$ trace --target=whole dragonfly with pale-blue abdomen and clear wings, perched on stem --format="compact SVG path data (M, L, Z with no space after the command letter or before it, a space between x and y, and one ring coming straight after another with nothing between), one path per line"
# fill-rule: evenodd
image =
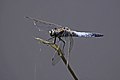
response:
M26 17L26 18L32 20L33 24L39 29L39 31L41 31L41 29L39 27L41 24L48 25L48 27L46 27L46 28L48 29L47 31L51 37L48 39L48 41L52 39L54 44L58 43L60 48L62 48L63 53L64 53L66 41L68 42L69 46L68 46L67 64L69 62L70 52L73 48L73 37L83 37L83 38L103 37L103 34L101 34L101 33L89 32L89 31L75 31L75 30L71 30L69 27L64 27L64 26L61 26L61 25L58 25L55 23L51 23L51 22L47 22L44 20L35 19L35 18L31 18L31 17ZM67 40L65 40L63 38L65 38ZM58 39L58 41L57 41L57 39ZM60 60L61 60L60 55L56 54L56 52L55 52L55 54L52 58L52 64L55 65Z

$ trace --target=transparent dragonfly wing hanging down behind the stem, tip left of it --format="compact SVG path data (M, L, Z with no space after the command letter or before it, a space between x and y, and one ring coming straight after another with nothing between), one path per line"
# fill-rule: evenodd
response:
M58 41L57 43L58 43L58 46L60 47L60 49L62 49L62 47L63 47L62 42L61 42L61 41ZM62 52L64 52L64 51L62 51ZM54 54L54 56L53 56L53 58L52 58L52 65L53 65L53 66L56 65L57 63L60 62L60 60L61 60L60 55L58 55L58 53L55 51L55 54Z

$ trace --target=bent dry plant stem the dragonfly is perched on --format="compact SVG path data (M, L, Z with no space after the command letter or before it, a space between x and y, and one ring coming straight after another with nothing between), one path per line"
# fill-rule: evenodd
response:
M46 45L49 45L50 47L54 48L57 52L58 55L60 55L62 61L64 62L65 65L67 65L67 60L65 59L60 47L54 43L48 42L46 40L43 40L41 38L35 38L39 43L43 43ZM67 69L69 70L69 72L71 73L71 75L73 76L74 80L78 80L77 76L75 75L75 72L72 70L72 68L70 67L70 65L68 64Z

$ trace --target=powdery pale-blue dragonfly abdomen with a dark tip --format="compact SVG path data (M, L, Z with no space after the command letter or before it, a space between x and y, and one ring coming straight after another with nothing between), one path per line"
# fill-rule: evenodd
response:
M95 32L73 31L72 36L74 36L74 37L102 37L103 35L101 33L95 33Z

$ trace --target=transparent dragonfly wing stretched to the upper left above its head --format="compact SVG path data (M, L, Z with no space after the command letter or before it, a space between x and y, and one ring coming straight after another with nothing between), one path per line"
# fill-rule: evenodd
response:
M47 21L44 21L44 20L40 20L40 19L35 19L35 18L31 18L31 17L25 17L29 20L32 20L33 21L33 24L36 26L36 28L39 30L39 31L49 31L53 28L56 28L56 27L62 27L61 25L58 25L58 24L55 24L55 23L51 23L51 22L47 22Z

